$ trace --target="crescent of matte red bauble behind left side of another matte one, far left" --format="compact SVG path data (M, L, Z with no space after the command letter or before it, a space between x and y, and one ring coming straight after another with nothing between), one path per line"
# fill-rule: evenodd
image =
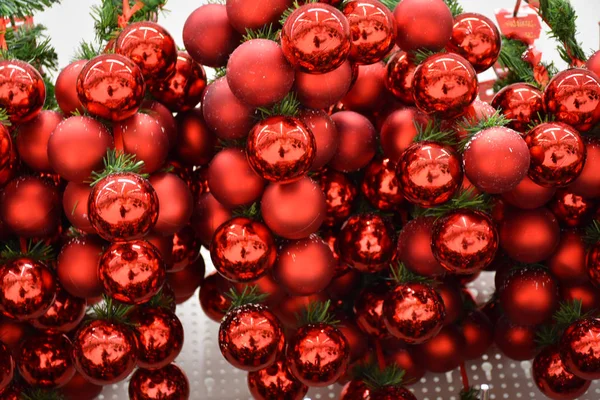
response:
M48 139L63 117L56 111L42 111L34 119L19 125L17 150L21 160L39 172L52 172L48 160Z

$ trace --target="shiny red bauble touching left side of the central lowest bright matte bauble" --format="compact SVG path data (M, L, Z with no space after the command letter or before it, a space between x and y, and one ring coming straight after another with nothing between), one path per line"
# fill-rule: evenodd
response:
M210 243L217 271L234 282L256 280L269 272L277 250L273 235L258 221L236 217L221 225Z

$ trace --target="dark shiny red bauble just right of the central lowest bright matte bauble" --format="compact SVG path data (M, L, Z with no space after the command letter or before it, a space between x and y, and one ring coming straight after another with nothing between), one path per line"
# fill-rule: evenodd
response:
M344 262L360 272L380 272L396 257L394 240L392 226L380 215L353 215L339 234L340 255Z

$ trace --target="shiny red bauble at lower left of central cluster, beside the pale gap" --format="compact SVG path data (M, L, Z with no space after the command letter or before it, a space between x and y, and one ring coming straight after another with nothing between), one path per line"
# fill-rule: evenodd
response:
M229 311L219 327L221 354L244 371L258 371L272 365L283 350L284 341L281 322L259 304L246 304Z

